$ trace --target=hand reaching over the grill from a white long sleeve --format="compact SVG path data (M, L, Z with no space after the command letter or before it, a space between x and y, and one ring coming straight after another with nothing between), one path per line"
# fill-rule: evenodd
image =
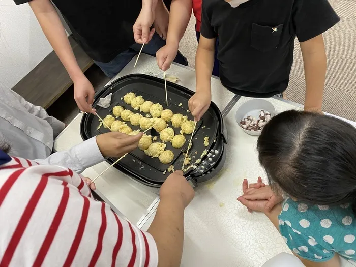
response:
M142 133L134 136L120 132L110 132L97 135L96 141L103 157L120 158L136 149Z

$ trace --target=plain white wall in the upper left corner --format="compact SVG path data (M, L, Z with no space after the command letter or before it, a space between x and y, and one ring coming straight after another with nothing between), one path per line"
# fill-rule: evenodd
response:
M51 51L28 4L0 1L0 84L12 88Z

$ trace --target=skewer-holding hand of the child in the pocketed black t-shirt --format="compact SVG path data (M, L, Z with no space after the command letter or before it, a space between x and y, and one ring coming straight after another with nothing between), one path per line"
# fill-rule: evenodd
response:
M190 112L194 120L199 122L207 109L209 109L212 102L212 95L210 91L202 91L195 93L188 101Z

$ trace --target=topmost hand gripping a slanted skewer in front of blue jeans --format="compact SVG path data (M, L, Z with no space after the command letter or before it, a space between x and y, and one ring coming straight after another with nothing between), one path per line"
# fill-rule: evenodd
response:
M143 44L151 41L155 29L150 31L150 28L154 21L154 9L149 5L142 5L141 12L132 27L136 43Z

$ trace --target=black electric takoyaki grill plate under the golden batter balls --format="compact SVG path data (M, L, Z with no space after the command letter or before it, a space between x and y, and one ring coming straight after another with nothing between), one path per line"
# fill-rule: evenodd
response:
M163 109L171 109L174 114L181 113L187 115L189 120L194 120L193 116L187 111L188 100L194 92L183 86L167 82L167 107L164 81L143 74L132 74L122 77L102 88L95 96L96 100L93 104L93 108L97 109L97 113L102 118L108 114L112 115L113 107L118 105L123 106L125 109L130 109L134 113L140 113L142 116L146 116L146 113L134 110L130 105L124 102L123 96L129 92L133 92L137 96L142 95L145 100L150 100L153 103L160 103ZM112 93L110 106L108 108L99 107L97 105L99 98L103 98L110 93ZM118 120L121 120L121 118L118 118ZM83 140L109 132L109 129L105 129L104 127L100 127L98 130L99 124L100 122L97 116L84 114L80 125L80 133ZM129 122L127 122L127 124L133 130L139 129L139 126L132 126ZM168 127L173 128L170 122L168 125ZM173 130L175 134L180 134L181 128L173 128ZM146 134L151 134L153 137L157 136L156 142L161 142L159 133L154 129L148 131ZM174 166L174 170L182 169L184 160L183 152L187 151L190 138L190 135L185 136L187 141L181 149L174 149L170 142L166 143L166 150L172 150L175 156L170 164L162 164L158 158L152 159L137 148L115 164L114 167L145 185L160 187L169 175L167 168L170 165ZM206 136L210 137L207 147L204 146L204 137ZM197 124L192 139L192 147L189 150L191 163L188 166L192 164L196 167L192 167L184 173L187 179L190 179L194 184L204 182L214 177L221 170L226 158L224 148L226 138L227 134L224 129L222 115L218 107L212 102L202 117L202 120ZM116 158L108 158L107 162L112 164L116 160ZM195 164L195 162L197 163Z

